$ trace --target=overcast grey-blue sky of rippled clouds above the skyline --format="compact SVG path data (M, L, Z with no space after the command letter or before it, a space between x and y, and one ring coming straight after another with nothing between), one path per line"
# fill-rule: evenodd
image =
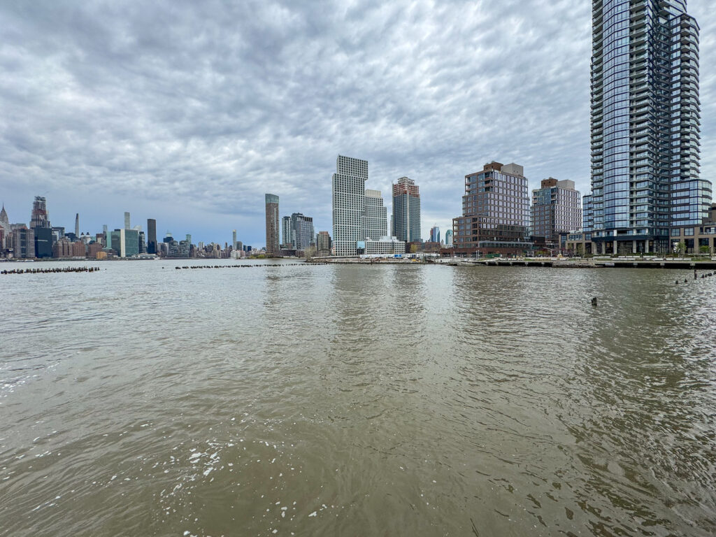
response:
M702 177L716 171L716 14L701 26ZM263 195L332 230L339 154L420 185L422 236L464 175L516 162L589 191L591 1L0 0L0 200L29 223L263 246Z

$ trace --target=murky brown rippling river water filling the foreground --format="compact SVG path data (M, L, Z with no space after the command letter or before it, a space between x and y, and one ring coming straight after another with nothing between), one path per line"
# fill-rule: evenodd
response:
M716 277L99 266L0 276L1 536L716 533Z

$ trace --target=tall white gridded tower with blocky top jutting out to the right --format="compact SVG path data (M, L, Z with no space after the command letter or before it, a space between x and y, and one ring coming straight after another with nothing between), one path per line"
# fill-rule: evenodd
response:
M337 256L356 256L362 241L368 161L338 155L332 175L333 242Z

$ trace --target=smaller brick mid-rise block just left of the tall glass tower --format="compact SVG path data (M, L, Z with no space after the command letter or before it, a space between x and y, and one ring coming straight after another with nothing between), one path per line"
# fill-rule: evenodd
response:
M559 233L579 231L582 224L581 196L574 181L544 179L532 190L531 235L556 243Z

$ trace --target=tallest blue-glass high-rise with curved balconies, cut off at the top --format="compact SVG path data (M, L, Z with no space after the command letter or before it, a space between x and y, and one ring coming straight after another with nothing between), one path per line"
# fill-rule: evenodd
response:
M699 26L685 0L593 0L591 195L596 253L667 251L707 218L699 178Z

